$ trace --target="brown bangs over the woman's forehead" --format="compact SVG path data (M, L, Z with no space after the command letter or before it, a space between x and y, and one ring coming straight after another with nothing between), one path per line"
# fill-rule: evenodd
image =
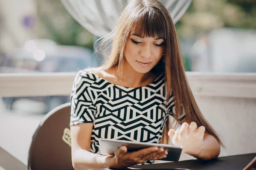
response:
M166 39L166 19L159 10L153 7L145 8L140 14L136 14L131 28L131 34Z

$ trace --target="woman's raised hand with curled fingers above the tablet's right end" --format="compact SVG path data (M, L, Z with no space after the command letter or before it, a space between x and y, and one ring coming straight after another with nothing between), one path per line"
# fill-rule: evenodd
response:
M204 132L204 126L197 128L195 122L191 122L190 125L184 122L177 130L170 129L168 135L172 144L183 147L182 152L196 156L202 149Z

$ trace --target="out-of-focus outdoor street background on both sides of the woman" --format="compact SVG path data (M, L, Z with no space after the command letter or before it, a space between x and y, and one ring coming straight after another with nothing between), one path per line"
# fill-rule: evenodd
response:
M256 0L192 0L176 29L186 71L256 72ZM94 55L98 38L60 0L0 0L0 74L97 67L103 61ZM66 102L70 96L0 96L0 146L26 163L24 153L38 123ZM22 148L17 133L27 140Z

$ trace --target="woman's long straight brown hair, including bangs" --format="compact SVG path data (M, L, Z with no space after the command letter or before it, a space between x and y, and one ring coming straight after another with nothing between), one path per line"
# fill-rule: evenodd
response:
M99 39L99 50L105 49L102 54L105 57L108 56L102 68L117 68L117 75L122 77L125 44L131 32L146 37L164 37L166 62L160 60L151 71L154 74L165 74L166 101L169 101L173 93L175 119L179 120L178 118L184 111L186 122L196 122L198 127L204 126L206 132L223 145L216 132L202 116L195 102L186 78L174 23L167 9L157 0L134 0L124 8L111 33ZM163 131L164 143L169 143L167 134L169 128L170 122L167 119Z

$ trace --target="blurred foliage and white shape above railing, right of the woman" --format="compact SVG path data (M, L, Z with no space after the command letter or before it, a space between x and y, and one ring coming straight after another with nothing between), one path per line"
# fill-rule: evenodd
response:
M187 71L256 72L256 0L193 0L176 28Z

